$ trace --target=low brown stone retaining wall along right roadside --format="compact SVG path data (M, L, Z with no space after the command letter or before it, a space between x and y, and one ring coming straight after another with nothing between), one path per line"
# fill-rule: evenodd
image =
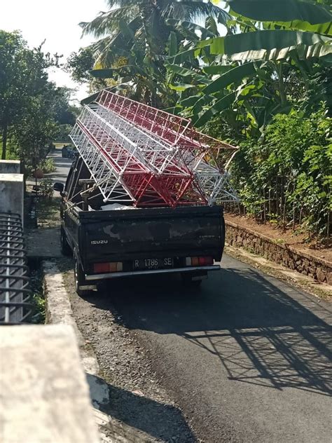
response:
M299 252L291 245L276 243L271 238L226 221L226 242L230 246L243 247L289 269L308 275L319 283L332 285L332 264L324 259Z

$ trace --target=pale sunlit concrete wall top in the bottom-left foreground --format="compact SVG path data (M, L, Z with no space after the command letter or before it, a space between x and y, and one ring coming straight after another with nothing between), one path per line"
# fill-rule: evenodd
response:
M1 443L100 442L71 327L3 327L0 355Z

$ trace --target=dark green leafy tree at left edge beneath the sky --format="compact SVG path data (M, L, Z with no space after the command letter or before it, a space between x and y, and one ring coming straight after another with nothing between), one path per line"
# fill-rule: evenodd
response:
M29 49L17 32L0 30L0 135L2 158L20 159L26 172L46 158L60 124L74 124L71 90L48 81L58 56Z

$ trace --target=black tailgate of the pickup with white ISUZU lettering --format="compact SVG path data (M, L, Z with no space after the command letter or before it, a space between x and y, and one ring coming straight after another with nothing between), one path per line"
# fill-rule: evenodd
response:
M80 243L85 263L144 257L221 259L221 207L177 207L81 212Z

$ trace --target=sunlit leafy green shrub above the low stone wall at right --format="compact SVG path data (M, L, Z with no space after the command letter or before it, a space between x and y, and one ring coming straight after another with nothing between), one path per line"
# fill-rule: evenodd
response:
M319 236L331 230L331 119L324 106L278 114L261 139L240 144L233 180L242 205L256 219L297 224Z

